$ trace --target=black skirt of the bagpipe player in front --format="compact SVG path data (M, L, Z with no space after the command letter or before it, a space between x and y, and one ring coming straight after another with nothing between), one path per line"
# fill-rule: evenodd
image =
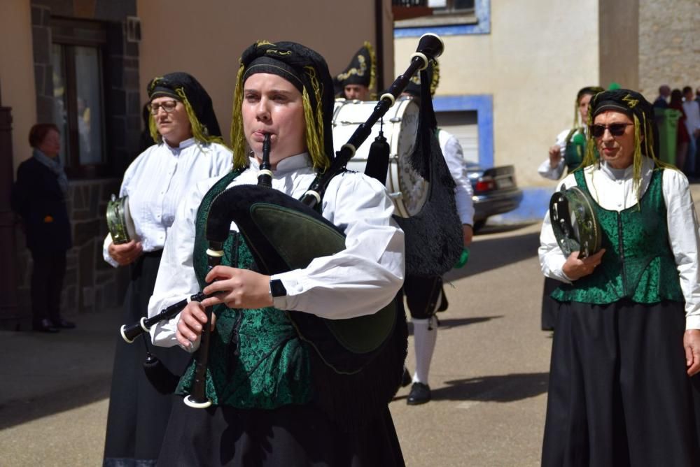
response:
M312 405L274 410L173 406L158 466L404 466L388 407L344 432Z

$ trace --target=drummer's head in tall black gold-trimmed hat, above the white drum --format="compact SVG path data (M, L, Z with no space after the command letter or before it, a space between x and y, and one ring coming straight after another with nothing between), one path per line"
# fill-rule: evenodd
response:
M365 41L355 52L350 64L333 78L338 96L345 99L369 101L374 99L374 79L377 76L377 59L372 44Z

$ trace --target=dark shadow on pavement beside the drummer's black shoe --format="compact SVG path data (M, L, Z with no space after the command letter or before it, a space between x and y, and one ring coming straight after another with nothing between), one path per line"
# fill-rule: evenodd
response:
M434 401L520 401L547 392L549 373L514 373L445 381L447 387L433 389ZM406 398L398 396L396 399Z

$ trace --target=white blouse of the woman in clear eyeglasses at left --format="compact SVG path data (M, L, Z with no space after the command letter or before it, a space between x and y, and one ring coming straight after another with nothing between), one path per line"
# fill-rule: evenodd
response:
M190 138L172 148L166 143L153 145L134 159L124 173L119 196L129 196L129 209L136 235L144 252L161 250L175 219L177 206L195 182L224 175L233 167L232 152L218 143L202 144ZM112 243L107 235L102 256L114 267L109 256Z

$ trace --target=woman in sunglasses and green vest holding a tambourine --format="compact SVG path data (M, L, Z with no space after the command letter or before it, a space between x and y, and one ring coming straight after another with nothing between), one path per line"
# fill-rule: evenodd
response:
M654 110L628 89L591 99L584 167L601 250L566 257L545 216L540 264L559 280L542 466L698 466L698 223L687 178L657 159ZM596 160L594 149L600 159Z

